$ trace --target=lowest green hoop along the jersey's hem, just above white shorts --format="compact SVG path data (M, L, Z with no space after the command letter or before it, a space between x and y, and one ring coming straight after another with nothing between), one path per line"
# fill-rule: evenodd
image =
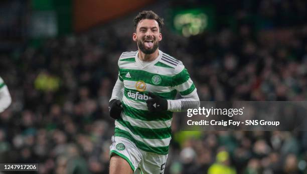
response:
M147 144L145 144L142 141L134 139L129 132L122 130L120 128L115 127L115 136L120 136L129 139L130 141L134 142L135 145L144 150L144 151L149 151L153 153L158 153L158 154L168 154L169 153L169 146L162 146L162 147L152 147Z

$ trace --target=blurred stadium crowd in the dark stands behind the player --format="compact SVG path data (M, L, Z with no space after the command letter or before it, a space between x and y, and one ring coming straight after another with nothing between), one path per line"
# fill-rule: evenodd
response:
M307 2L214 5L217 17L235 17L234 27L222 23L188 38L166 27L160 44L184 62L200 99L305 100ZM1 53L0 75L13 98L0 114L1 163L38 162L39 173L107 173L117 59L136 50L132 21L116 23ZM182 132L173 122L165 173L307 173L307 132Z

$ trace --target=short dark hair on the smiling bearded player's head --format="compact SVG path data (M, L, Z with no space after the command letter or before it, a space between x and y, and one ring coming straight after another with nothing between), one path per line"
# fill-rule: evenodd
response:
M159 24L159 28L160 28L160 32L161 29L164 25L164 19L161 18L158 14L156 14L154 11L151 10L143 10L142 12L139 12L133 19L133 24L134 24L134 29L136 29L136 26L138 24L138 22L142 19L155 19L158 24Z

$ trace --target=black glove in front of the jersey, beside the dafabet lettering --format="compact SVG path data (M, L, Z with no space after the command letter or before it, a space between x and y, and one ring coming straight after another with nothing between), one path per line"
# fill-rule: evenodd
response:
M155 95L151 92L148 92L148 96L151 97L151 99L148 99L146 101L148 110L150 112L160 112L168 110L168 101L166 99L163 99L160 96Z

